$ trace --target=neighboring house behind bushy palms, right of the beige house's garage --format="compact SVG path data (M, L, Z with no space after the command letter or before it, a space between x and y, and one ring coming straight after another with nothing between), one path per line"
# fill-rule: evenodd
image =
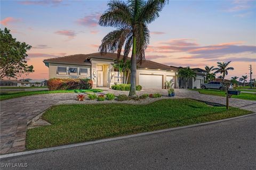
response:
M189 79L188 88L201 88L201 84L203 84L206 79L206 71L201 68L192 68L192 70L196 72L196 78ZM179 88L185 88L185 82L181 77L179 77Z

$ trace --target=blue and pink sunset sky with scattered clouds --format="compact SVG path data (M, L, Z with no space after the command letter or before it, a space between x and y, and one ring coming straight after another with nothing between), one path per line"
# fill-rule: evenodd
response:
M98 25L108 1L1 1L1 29L32 48L35 72L21 78L48 79L43 60L98 52L115 28ZM146 59L169 66L217 67L231 61L227 78L256 78L256 1L169 1L148 25ZM217 74L217 76L219 76Z

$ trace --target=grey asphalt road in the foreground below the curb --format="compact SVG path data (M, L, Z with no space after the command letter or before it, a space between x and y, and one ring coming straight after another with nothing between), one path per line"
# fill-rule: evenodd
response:
M256 115L1 162L27 169L256 169Z

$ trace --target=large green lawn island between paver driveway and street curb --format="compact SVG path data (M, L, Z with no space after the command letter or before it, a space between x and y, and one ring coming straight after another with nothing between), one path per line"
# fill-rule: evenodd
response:
M27 149L156 131L250 114L238 108L212 107L191 99L150 104L72 104L53 106L43 119L50 126L29 129Z

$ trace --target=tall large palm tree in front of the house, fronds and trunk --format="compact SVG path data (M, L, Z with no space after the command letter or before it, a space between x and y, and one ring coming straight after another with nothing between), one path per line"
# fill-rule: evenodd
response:
M101 41L99 51L103 54L117 51L117 59L121 55L124 46L124 62L130 53L131 58L131 89L129 96L136 95L136 70L137 60L145 59L145 50L149 44L148 24L159 17L166 0L113 0L108 3L108 10L103 13L99 20L100 26L115 27L114 31L108 33Z

